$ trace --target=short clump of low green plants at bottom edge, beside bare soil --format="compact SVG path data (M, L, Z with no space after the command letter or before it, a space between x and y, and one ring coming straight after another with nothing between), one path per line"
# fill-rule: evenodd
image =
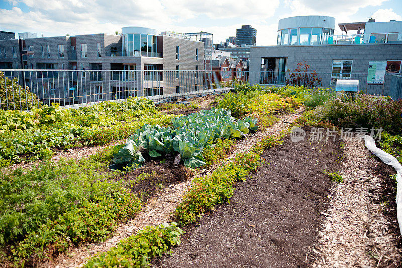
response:
M146 267L154 256L162 256L170 247L180 245L182 231L176 223L146 226L137 234L123 239L116 247L100 253L85 265L92 267Z

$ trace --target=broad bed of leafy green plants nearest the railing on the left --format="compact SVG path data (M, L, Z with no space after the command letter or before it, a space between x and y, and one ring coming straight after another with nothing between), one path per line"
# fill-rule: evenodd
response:
M18 162L22 155L37 159L44 149L70 144L106 144L127 138L147 122L168 125L172 117L156 111L152 101L137 98L80 109L52 104L29 112L0 110L0 162Z

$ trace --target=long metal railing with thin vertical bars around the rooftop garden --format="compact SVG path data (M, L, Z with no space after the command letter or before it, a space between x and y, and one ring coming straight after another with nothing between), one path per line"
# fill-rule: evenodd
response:
M25 72L23 85L22 73ZM30 110L43 104L82 107L130 96L152 100L175 99L228 92L237 82L304 85L335 88L337 79L359 80L359 90L391 94L391 76L383 84L367 84L367 74L294 73L248 71L148 71L148 70L0 70L0 109Z

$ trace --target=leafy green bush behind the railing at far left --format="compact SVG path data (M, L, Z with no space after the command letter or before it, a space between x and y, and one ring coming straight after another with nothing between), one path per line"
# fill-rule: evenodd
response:
M6 86L4 73L0 72L0 103L2 110L30 110L38 108L38 96L33 94L29 87L25 89L18 84L17 77L6 77ZM41 106L41 104L39 104Z

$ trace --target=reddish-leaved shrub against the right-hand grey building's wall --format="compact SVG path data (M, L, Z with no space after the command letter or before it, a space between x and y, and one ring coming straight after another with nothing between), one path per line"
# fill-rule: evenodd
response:
M287 69L289 78L286 79L286 84L309 88L321 86L321 78L318 77L316 71L311 71L309 68L310 65L308 65L306 61L303 61L303 63L297 63L297 68L294 69L294 71L290 72L290 69Z

